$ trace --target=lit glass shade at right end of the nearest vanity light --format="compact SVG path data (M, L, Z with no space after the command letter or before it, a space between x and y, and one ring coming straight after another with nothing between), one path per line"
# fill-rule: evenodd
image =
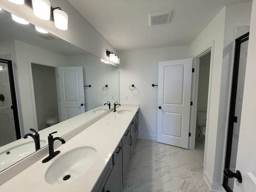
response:
M55 9L53 11L53 16L56 28L60 30L68 29L68 15L64 11Z

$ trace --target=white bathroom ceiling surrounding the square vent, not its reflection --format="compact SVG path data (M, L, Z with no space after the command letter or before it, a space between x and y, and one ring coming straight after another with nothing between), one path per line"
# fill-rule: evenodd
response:
M225 5L251 0L68 0L117 50L189 45ZM170 24L148 14L173 10Z

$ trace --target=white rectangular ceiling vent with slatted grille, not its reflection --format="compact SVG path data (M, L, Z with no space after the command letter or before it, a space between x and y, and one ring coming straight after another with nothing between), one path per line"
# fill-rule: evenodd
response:
M172 10L149 14L149 26L166 25L170 23L171 17Z

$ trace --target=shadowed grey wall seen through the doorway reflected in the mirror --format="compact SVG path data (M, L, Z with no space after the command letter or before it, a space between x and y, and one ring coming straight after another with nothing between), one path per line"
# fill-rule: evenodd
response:
M55 67L32 63L38 130L49 127L45 120L59 116Z

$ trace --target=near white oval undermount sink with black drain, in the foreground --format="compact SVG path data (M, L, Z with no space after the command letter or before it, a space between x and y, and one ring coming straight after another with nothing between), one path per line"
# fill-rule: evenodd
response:
M97 151L90 146L74 148L57 158L46 170L44 179L49 184L63 184L86 172L96 161Z

